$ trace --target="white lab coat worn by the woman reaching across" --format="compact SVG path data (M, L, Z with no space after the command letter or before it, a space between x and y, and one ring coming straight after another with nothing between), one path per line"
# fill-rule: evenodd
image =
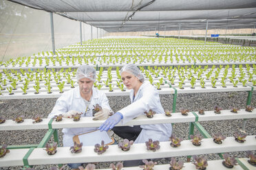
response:
M123 115L122 124L131 121L140 114L145 114L144 112L148 112L150 109L155 111L156 114L164 114L159 93L148 81L143 82L135 97L132 89L130 99L131 104L118 111ZM142 131L134 143L145 143L149 141L149 138L152 138L153 141L169 141L171 136L171 123L140 125L140 127Z

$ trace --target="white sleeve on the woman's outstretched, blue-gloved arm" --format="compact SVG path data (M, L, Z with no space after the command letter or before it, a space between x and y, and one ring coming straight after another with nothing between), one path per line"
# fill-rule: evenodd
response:
M122 124L131 121L135 117L138 117L144 112L148 112L150 108L156 108L156 100L159 99L158 92L152 87L142 88L142 97L134 103L122 108L118 112L122 113L123 119L120 121ZM154 110L153 110L154 111Z

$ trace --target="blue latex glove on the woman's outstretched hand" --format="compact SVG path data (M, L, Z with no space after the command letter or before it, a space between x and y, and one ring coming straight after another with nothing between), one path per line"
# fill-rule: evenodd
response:
M100 125L100 127L98 127L98 130L100 130L100 132L103 132L103 130L111 130L117 123L121 121L122 117L122 113L116 112L111 117L109 117L102 125Z

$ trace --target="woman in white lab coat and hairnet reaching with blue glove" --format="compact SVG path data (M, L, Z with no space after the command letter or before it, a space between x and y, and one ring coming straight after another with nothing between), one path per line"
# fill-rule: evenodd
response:
M112 129L119 122L125 124L149 110L155 111L156 114L164 114L158 90L150 82L145 81L135 64L123 66L121 77L125 86L131 89L131 104L109 117L103 125L100 125L100 131ZM152 138L153 141L169 141L171 136L171 123L140 125L140 127L142 131L134 143L145 143L149 141L149 138Z

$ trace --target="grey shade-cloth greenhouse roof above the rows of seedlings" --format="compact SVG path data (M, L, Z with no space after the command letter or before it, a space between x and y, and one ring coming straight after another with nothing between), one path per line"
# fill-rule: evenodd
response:
M239 29L256 25L255 0L9 0L107 32Z

